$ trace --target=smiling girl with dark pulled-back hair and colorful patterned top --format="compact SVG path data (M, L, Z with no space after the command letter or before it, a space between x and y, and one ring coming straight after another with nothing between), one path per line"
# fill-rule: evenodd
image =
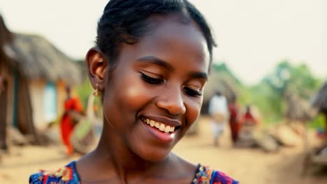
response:
M238 183L170 152L198 118L214 46L187 0L111 0L86 56L103 102L99 145L29 183Z

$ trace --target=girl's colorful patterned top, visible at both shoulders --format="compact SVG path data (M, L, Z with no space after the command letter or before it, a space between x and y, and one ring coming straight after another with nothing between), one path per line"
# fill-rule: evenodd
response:
M55 172L40 172L29 177L30 184L81 184L80 177L75 167L75 161L62 167ZM191 184L238 184L232 178L220 171L215 171L210 167L203 167L198 164L194 180Z

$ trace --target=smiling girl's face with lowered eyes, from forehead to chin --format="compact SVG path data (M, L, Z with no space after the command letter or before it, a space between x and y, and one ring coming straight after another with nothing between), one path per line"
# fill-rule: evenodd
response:
M165 159L198 118L209 60L193 23L166 20L135 45L124 44L103 82L110 133L144 160Z

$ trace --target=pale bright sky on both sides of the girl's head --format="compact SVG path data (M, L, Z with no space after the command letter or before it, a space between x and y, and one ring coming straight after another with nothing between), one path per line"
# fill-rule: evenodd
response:
M0 0L11 31L45 36L75 59L94 45L96 22L108 0ZM282 59L306 63L327 79L327 2L324 0L191 0L215 30L215 62L247 84Z

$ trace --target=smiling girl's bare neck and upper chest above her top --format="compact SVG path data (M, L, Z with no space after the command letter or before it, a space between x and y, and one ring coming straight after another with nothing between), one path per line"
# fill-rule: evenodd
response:
M77 162L82 183L140 183L175 181L190 183L196 166L170 153L161 162L149 162L134 154L109 125L103 125L103 134L97 148Z

